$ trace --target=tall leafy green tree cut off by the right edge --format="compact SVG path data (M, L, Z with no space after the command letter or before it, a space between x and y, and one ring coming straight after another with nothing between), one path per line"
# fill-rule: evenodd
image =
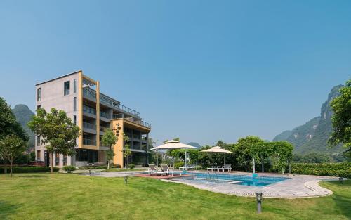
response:
M345 155L351 157L351 79L339 91L340 96L331 101L333 131L328 143L331 147L343 144Z

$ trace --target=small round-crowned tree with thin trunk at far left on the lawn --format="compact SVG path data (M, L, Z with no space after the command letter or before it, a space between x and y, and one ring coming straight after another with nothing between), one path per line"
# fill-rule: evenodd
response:
M11 134L0 141L0 150L10 162L10 176L12 176L13 161L25 151L26 143L22 138Z

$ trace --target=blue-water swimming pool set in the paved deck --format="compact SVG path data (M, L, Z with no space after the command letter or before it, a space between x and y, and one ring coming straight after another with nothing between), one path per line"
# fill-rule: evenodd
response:
M191 174L192 176L186 176L186 177L180 177L180 178L190 180L190 181L227 183L227 184L237 184L237 185L243 185L243 186L267 186L272 183L277 183L277 182L289 179L285 177L272 177L272 176L257 176L253 178L253 176L248 176L248 175L218 174L218 173L208 174L208 173L186 172L186 174ZM173 179L173 180L177 181L177 179Z

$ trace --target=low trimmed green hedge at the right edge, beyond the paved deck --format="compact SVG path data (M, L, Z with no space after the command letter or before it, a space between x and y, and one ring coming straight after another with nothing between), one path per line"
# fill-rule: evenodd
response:
M291 164L292 174L342 176L351 178L351 162L324 164Z

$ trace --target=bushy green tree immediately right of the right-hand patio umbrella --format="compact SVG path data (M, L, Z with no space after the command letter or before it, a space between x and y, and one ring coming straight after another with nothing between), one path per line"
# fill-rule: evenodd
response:
M237 157L237 162L244 170L251 170L253 149L258 145L262 145L264 141L257 136L247 136L246 138L239 138L238 142L233 146L233 152Z

